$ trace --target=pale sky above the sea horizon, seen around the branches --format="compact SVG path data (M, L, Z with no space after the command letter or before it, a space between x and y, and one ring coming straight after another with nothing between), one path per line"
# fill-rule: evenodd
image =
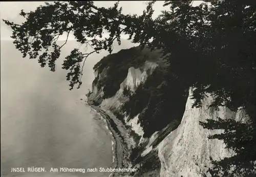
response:
M147 1L120 1L119 6L123 8L124 14L142 14L142 11L146 7ZM194 1L193 6L200 4L202 1ZM111 7L116 1L95 1L94 2L98 7ZM2 19L8 19L14 23L20 24L24 21L24 18L19 15L20 10L25 12L33 11L36 7L44 5L45 2L0 2L0 18L1 18L1 40L11 40L10 36L12 34L11 29L6 26ZM153 17L157 17L162 10L168 9L168 7L163 7L164 1L157 1L154 4L155 13ZM127 38L127 36L122 36ZM70 36L70 39L73 39L73 36ZM62 36L60 40L65 40L66 36Z

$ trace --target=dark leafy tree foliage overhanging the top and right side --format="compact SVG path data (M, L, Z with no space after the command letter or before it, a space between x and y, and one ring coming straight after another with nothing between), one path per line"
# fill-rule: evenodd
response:
M197 7L191 6L193 2L167 1L165 6L169 9L156 19L152 18L154 2L148 4L142 15L124 15L118 3L104 8L96 7L92 1L54 2L35 11L20 12L25 17L22 24L4 21L12 28L14 44L24 57L28 54L30 58L38 58L41 67L48 64L51 71L55 71L55 61L66 44L56 44L63 33L73 32L78 42L92 47L88 53L74 49L65 58L62 65L69 71L67 80L71 89L75 84L80 86L88 56L100 50L112 52L113 41L120 44L121 34L129 35L142 48L148 45L162 49L177 82L196 88L194 106L200 106L205 93L210 93L215 96L212 104L215 108L220 105L232 110L245 108L249 124L220 120L203 125L224 129L225 134L211 138L224 140L237 152L233 158L215 162L215 169L227 171L236 165L231 176L248 176L255 173L252 162L256 160L256 2L204 1ZM110 36L97 38L104 31Z

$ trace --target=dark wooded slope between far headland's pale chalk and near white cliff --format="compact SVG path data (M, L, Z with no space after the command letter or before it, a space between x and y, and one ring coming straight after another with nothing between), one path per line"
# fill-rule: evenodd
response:
M143 137L151 137L167 124L181 121L185 110L187 85L182 84L168 70L157 67L144 84L138 86L129 101L122 106L130 118L139 115ZM174 126L173 128L176 128Z

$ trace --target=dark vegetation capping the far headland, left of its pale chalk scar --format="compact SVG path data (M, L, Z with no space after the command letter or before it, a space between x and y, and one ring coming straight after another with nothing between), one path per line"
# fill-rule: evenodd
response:
M110 98L120 89L120 84L126 78L130 67L140 68L146 60L155 60L148 50L141 51L139 47L121 50L118 53L103 57L95 64L94 70L99 74L106 69L104 77L96 77L93 84L103 87L103 98Z

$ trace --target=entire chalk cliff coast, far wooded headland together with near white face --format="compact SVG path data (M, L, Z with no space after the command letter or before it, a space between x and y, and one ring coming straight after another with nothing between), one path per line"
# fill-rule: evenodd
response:
M130 151L126 160L141 169L130 175L210 177L210 159L234 153L222 141L207 138L222 130L204 129L199 121L218 117L240 121L243 110L209 108L210 96L203 99L202 107L192 108L191 89L168 75L168 64L159 52L132 48L103 58L95 65L88 96L122 122L121 133Z

